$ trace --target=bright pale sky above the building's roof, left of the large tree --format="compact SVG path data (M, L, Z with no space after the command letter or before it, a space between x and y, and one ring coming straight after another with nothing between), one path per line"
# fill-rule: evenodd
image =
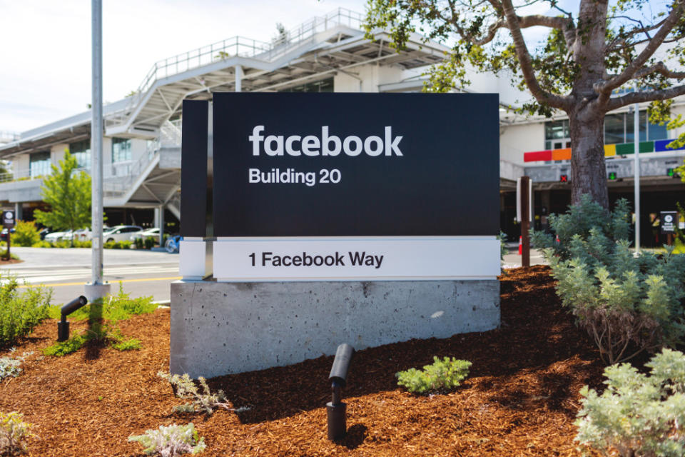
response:
M103 100L138 88L153 64L232 36L270 41L365 0L103 0ZM287 7L285 7L287 5ZM0 0L0 131L26 131L91 102L91 1Z

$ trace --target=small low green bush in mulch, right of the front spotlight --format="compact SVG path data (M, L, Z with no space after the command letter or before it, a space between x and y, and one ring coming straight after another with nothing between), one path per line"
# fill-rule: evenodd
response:
M433 357L432 365L423 367L423 371L410 368L395 374L397 385L405 386L413 393L428 393L430 391L448 391L460 385L469 376L470 361L445 357L442 360Z

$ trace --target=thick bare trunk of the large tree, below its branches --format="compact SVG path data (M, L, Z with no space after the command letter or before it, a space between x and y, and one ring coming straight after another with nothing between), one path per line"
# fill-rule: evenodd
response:
M571 201L589 194L609 209L607 168L604 164L604 113L586 109L569 112L571 129Z

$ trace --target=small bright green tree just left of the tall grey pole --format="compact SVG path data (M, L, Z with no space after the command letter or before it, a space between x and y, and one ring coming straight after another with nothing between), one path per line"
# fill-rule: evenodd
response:
M65 151L59 168L53 165L52 173L43 178L41 194L51 211L34 211L36 221L57 230L76 231L91 225L91 176L76 169L76 157Z

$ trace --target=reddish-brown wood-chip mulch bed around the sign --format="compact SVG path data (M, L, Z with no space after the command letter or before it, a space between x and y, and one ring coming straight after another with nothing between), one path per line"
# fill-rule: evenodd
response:
M168 369L169 311L120 323L141 339L140 351L87 348L61 358L41 356L56 321L19 346L35 351L24 373L0 383L0 411L34 424L30 456L143 456L131 434L193 421L208 445L203 456L580 456L573 438L579 389L602 384L596 349L554 294L544 266L502 276L502 326L446 339L412 340L359 351L343 397L348 433L326 438L325 403L333 358L222 376L236 414L172 414L180 404L156 376ZM72 332L85 327L72 323ZM433 356L472 361L452 393L415 396L395 373Z

